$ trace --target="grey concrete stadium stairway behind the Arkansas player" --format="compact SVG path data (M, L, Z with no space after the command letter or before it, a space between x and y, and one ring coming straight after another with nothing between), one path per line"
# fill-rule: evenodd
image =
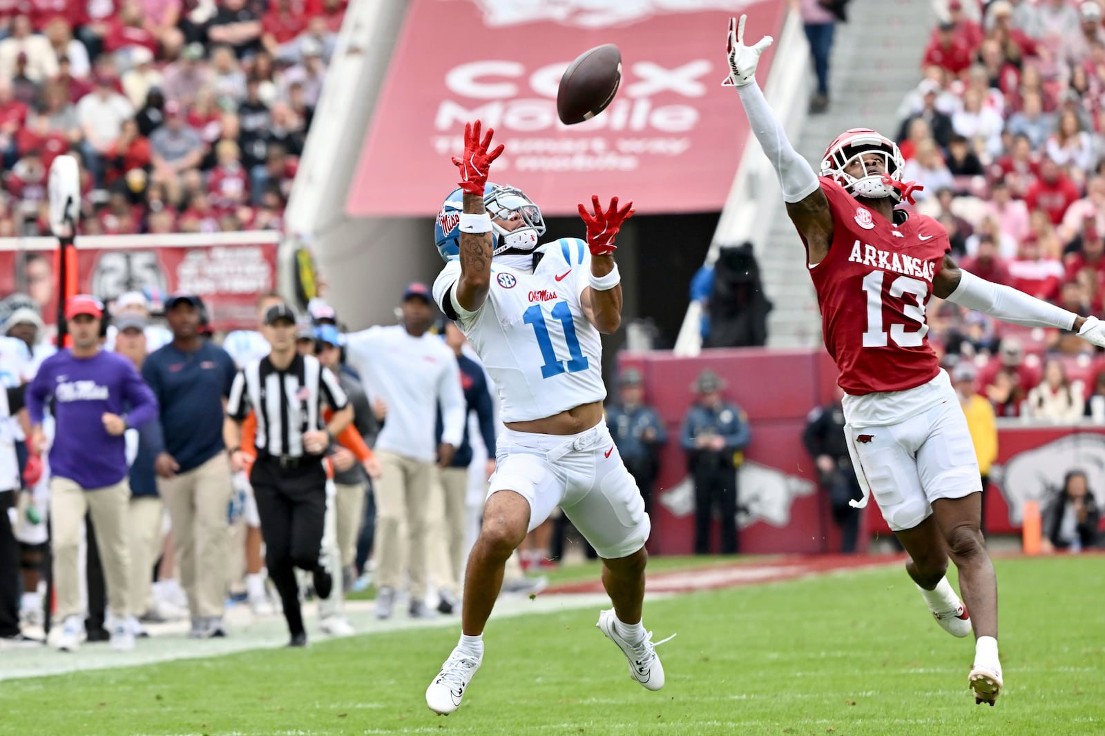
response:
M920 78L920 58L935 25L932 7L922 0L849 3L849 22L836 24L830 60L829 111L809 116L794 140L794 148L814 171L820 171L829 142L849 128L874 128L891 138L897 134L895 111ZM768 344L819 344L821 317L806 273L802 243L781 202L771 217L766 247L757 250L765 290L775 302Z

